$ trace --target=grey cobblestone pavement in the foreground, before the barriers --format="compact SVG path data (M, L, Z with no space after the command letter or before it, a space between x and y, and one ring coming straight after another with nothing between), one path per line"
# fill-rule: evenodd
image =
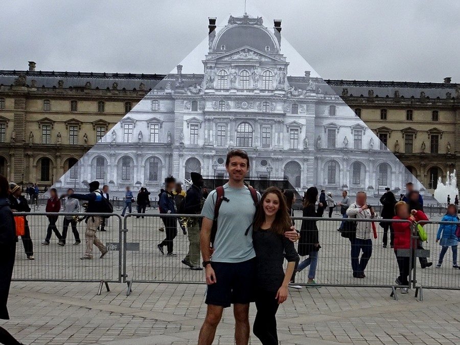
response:
M204 285L123 284L98 296L97 283L13 282L11 320L1 325L26 344L194 344L205 315ZM460 291L388 288L291 290L278 312L283 344L450 344L460 341ZM250 322L256 308L250 308ZM216 344L233 343L227 309ZM259 341L251 336L251 344Z

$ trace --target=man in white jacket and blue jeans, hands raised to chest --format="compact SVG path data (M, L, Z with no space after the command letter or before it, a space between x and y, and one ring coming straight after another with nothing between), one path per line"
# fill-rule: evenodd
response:
M365 192L356 193L356 201L348 208L347 215L350 218L357 219L377 218L374 208L367 204L367 195ZM363 279L366 277L364 270L372 256L372 234L371 222L356 223L356 236L350 239L351 264L354 278ZM362 256L360 258L359 255L361 252Z

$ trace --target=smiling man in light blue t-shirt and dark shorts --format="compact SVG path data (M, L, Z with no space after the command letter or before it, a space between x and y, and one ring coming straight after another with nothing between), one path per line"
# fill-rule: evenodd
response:
M208 310L200 330L200 345L212 344L223 309L231 304L234 305L235 341L237 344L247 344L249 341L249 303L254 302L256 284L256 253L252 246L251 223L256 213L256 205L248 187L244 185L244 177L249 170L247 153L243 150L228 152L225 168L228 182L223 186L224 199L217 218L213 252L210 244L217 198L215 190L206 198L201 211L203 222L200 247L208 284ZM257 194L260 200L261 196ZM245 235L248 228L249 232ZM293 227L285 236L291 241L296 241L299 237Z

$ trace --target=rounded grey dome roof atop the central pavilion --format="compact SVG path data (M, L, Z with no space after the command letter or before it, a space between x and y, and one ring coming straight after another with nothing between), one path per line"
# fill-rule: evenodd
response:
M230 52L247 45L268 54L279 53L280 48L274 35L268 32L264 26L258 25L261 23L262 18L256 25L247 20L242 24L241 21L235 20L240 18L231 18L234 19L235 24L226 26L218 34L214 52Z

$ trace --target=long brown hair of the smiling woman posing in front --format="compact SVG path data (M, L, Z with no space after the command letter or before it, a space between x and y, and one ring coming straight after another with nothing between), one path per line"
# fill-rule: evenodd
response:
M265 211L264 211L264 200L268 194L275 194L280 200L280 208L275 215L273 224L271 225L271 231L278 235L283 235L285 231L288 231L292 226L291 219L289 218L289 213L286 205L286 199L284 198L283 193L276 187L269 187L259 202L259 207L256 211L256 217L254 219L254 230L258 231L262 224L265 222Z

